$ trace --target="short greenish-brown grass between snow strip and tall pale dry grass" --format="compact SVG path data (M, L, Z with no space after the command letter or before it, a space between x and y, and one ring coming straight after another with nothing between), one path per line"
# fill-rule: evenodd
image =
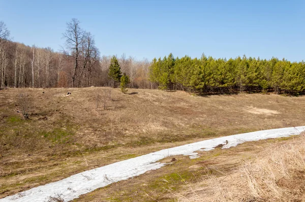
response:
M172 164L167 164L156 171L146 172L133 179L97 189L74 201L192 201L192 197L197 197L195 201L202 201L203 197L199 197L201 192L211 194L211 190L214 188L219 190L215 179L232 180L232 173L245 162L252 162L256 159L256 155L260 154L262 150L268 149L270 145L290 143L293 139L298 138L247 142L230 149L201 152L197 159L175 156L176 160L171 161L172 157L165 158L161 162L171 162ZM226 184L226 186L229 188L230 184ZM211 190L207 190L207 188ZM209 197L203 201L217 201L215 194L211 194L211 196L215 198Z

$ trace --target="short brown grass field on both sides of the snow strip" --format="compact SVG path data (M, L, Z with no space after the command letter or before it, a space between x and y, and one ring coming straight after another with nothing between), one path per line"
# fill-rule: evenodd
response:
M123 94L111 89L111 99L103 109L104 91L103 87L0 90L0 197L163 148L242 132L305 125L304 96L196 96L145 89L129 89L130 94ZM31 120L24 120L16 112L20 110L21 92L27 97ZM200 169L198 163L213 167L215 161L224 162L220 158L226 155L232 161L247 158L270 142L276 141L217 149L207 152L206 159L176 157L178 160L170 166L77 200L193 200L194 192L198 192L188 193L190 187L185 185L200 184L200 176L210 173ZM223 170L230 167L224 163L212 173L225 173ZM166 184L171 179L174 182Z

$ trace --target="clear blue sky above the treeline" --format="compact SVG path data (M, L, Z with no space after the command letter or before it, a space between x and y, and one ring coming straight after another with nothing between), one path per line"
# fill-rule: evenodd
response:
M102 55L283 57L305 60L305 1L32 1L0 0L0 20L14 41L64 44L77 18Z

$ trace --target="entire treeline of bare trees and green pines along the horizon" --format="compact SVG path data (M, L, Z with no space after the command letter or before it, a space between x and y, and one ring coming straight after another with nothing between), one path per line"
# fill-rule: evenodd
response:
M89 87L118 86L111 78L111 58L100 56L93 35L83 30L77 19L67 23L64 50L25 46L12 42L0 21L0 88L5 87ZM152 62L115 56L119 74L127 75L130 88L160 88L196 93L275 91L301 93L305 89L305 62L236 57L200 59L172 54ZM110 72L110 74L109 74ZM116 73L115 73L116 74ZM110 75L110 76L109 76ZM128 81L128 82L127 82Z

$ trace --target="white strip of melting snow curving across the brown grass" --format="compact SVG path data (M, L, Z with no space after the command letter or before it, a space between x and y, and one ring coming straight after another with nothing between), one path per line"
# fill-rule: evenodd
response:
M97 188L107 186L113 182L127 180L147 171L160 169L165 163L159 163L157 161L168 156L190 155L192 158L196 158L198 154L195 151L209 151L220 144L224 145L222 148L230 148L248 141L294 136L303 131L305 131L305 126L261 130L163 149L158 152L85 171L57 182L7 196L0 199L0 201L53 201L52 197L70 201L79 197L81 194L92 192Z

